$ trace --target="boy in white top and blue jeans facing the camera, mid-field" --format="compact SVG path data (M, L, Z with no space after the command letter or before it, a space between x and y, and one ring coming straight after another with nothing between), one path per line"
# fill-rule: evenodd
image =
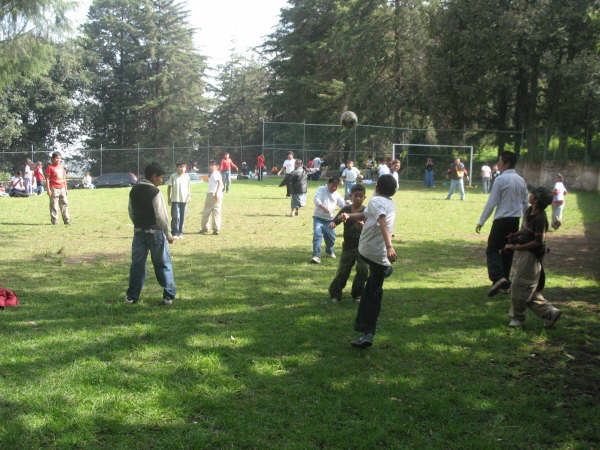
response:
M329 178L325 186L319 187L315 192L315 211L313 213L313 254L311 262L321 263L321 243L325 238L325 253L330 258L335 258L333 246L335 245L335 230L329 228L334 218L335 208L344 207L344 199L337 193L340 180L337 177Z

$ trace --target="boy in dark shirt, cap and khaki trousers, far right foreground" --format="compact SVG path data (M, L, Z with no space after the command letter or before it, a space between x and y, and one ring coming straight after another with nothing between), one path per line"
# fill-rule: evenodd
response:
M548 218L545 209L552 203L552 192L546 187L531 190L521 229L508 237L505 249L514 251L514 271L509 316L511 328L522 327L525 309L544 319L544 327L551 328L561 315L558 308L544 298L541 291L545 282L542 260L546 253Z

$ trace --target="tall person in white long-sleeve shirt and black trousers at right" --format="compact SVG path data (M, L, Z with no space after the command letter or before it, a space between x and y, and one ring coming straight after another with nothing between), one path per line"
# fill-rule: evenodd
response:
M498 161L501 175L494 181L490 196L483 208L475 231L479 233L494 208L494 222L488 237L486 249L488 275L492 287L488 296L496 295L501 289L510 287L510 268L513 252L502 251L506 237L519 230L519 219L528 206L527 183L515 171L517 156L513 152L503 152Z

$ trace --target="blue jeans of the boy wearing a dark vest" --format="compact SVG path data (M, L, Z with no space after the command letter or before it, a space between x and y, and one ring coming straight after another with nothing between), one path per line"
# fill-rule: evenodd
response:
M163 298L175 298L175 278L173 277L171 254L169 253L167 237L161 230L152 230L151 233L140 230L133 233L127 297L134 300L140 298L146 279L148 251L150 251L152 258L156 280L163 288Z

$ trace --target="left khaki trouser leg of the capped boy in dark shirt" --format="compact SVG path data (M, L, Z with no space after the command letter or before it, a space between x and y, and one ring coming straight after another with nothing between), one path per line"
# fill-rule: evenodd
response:
M511 288L512 318L525 320L525 309L540 279L541 266L535 255L528 250L515 252L515 270Z

